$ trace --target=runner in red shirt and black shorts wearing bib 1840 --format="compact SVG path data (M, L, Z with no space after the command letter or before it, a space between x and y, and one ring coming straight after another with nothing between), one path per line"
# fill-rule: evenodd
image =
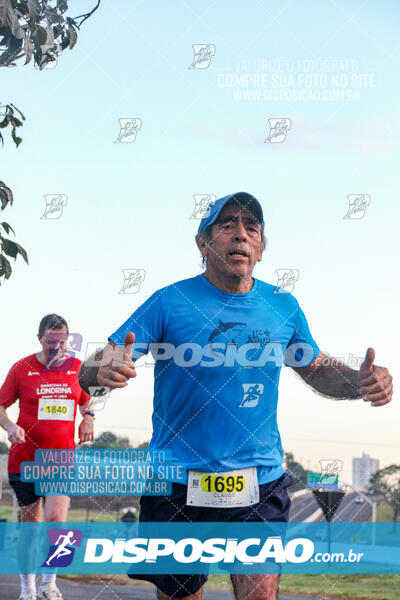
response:
M66 354L68 325L62 317L50 314L39 325L42 350L16 362L0 389L0 426L8 433L11 448L8 459L10 485L20 506L21 521L41 521L44 504L46 522L65 522L68 496L38 496L33 482L21 481L20 465L35 459L37 449L75 448L75 418L79 405L83 419L79 443L93 441L94 413L90 396L78 381L77 358ZM19 400L19 416L14 423L6 409ZM42 500L43 498L43 500ZM62 600L56 575L42 575L38 595L34 574L21 574L19 600Z

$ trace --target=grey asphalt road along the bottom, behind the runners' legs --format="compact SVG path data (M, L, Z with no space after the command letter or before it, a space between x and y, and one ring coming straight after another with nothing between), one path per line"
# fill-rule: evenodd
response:
M64 600L155 600L155 588L144 585L94 585L57 580L57 586ZM18 575L0 575L1 600L17 600L19 597ZM234 600L230 590L206 590L203 600ZM279 600L323 600L313 596L292 596L280 594Z

